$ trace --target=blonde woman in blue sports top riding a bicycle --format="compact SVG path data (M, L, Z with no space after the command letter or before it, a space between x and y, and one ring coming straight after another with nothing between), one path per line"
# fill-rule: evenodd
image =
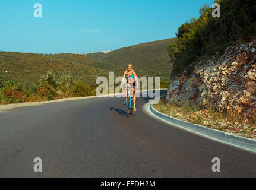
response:
M138 89L138 78L136 72L132 69L132 64L128 65L128 69L124 72L124 76L122 78L122 83L121 83L121 88L122 85L124 84L124 80L127 80L126 87L133 87L133 110L136 112L136 96L135 96L135 89ZM127 105L127 94L128 94L128 88L126 90L126 97L125 97L125 102L124 105Z

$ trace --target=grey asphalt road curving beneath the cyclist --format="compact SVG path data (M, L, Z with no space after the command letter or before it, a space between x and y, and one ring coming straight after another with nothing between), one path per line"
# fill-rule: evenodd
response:
M0 178L256 178L256 155L163 124L124 99L0 112ZM42 159L43 172L33 160ZM221 172L211 170L219 157Z

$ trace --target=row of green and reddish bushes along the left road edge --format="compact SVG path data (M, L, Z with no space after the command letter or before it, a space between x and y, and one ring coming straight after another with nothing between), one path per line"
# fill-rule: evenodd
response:
M92 96L95 94L95 89L96 85L74 80L69 75L62 75L61 80L58 81L53 72L47 72L30 87L24 87L17 81L0 75L0 104Z

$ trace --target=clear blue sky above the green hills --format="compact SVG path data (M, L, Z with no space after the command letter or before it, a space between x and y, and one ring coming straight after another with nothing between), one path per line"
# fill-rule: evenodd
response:
M168 39L204 4L213 0L1 0L0 50L90 53Z

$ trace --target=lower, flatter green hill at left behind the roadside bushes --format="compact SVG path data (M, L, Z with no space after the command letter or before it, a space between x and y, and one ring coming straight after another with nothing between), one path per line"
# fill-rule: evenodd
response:
M84 55L0 52L0 74L27 86L47 71L53 71L58 80L62 75L72 75L75 80L93 84L98 76L108 77L112 68L112 64Z

